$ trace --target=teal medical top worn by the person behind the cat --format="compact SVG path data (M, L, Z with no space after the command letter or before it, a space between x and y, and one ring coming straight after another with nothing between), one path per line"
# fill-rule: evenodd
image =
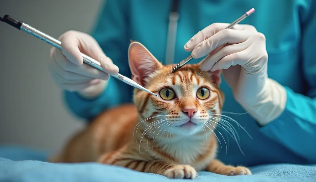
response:
M130 40L142 43L164 63L171 3L170 0L106 1L92 36L121 74L131 76L127 59ZM316 163L316 1L181 0L175 63L190 55L184 45L198 31L215 22L231 23L251 8L255 13L240 24L250 24L265 35L268 75L286 88L286 108L281 116L264 127L248 114L227 114L252 138L231 122L240 137L241 152L236 141L219 128L228 148L217 133L222 144L218 158L226 164L246 166ZM191 63L196 61L191 60ZM226 97L223 111L245 113L222 80L220 87ZM87 100L67 91L64 99L76 116L91 120L108 108L131 103L132 90L131 86L110 78L104 92L95 99Z

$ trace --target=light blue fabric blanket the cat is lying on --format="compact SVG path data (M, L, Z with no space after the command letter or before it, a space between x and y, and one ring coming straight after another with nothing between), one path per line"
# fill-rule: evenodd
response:
M168 179L150 173L98 163L53 164L45 162L47 153L19 147L0 147L0 181L14 182L316 182L316 165L271 164L251 168L253 175L223 176L199 172L194 180Z

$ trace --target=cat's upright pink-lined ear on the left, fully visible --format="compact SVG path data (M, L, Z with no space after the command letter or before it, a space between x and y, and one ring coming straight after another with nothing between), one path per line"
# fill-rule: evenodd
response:
M142 86L146 85L146 78L148 78L151 73L163 67L155 56L139 42L132 42L130 44L128 48L128 62L133 81Z

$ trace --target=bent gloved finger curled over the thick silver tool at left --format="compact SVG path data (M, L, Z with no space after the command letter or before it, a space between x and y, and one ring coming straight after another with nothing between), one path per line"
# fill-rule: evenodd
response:
M81 55L81 52L79 50L79 42L78 38L68 34L61 38L61 51L66 56L66 58L76 64L76 65L82 65L83 64L83 58Z

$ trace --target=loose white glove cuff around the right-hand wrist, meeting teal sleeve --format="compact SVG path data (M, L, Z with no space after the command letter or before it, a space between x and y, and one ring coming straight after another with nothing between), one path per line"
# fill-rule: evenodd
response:
M275 80L267 78L255 104L245 109L257 120L259 125L264 126L283 113L286 101L285 88Z

